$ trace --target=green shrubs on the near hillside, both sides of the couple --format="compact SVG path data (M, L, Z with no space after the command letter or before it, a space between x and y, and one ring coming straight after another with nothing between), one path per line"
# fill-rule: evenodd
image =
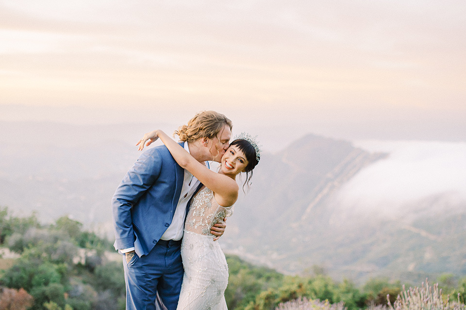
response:
M115 250L108 240L83 231L80 222L60 217L53 224L42 225L35 215L13 217L7 208L0 208L0 246L18 254L9 265L0 263L4 266L0 271L0 310L125 309L121 260L112 259ZM406 305L406 301L404 304L403 300L396 301L402 290L399 281L370 279L357 287L348 279L334 281L319 266L311 266L307 274L286 276L245 263L237 256L227 256L227 261L230 279L225 297L230 310L373 309L385 307L387 294L391 304ZM441 305L452 305L447 304L446 294L458 296L464 303L466 278L446 274L437 280L444 289L445 302L440 301ZM417 294L416 290L410 292L404 291L404 295ZM435 296L438 303L442 293L437 289ZM314 306L296 308L306 303Z

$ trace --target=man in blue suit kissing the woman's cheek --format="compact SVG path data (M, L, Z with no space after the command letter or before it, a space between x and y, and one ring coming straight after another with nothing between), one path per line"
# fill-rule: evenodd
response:
M180 145L199 162L220 162L231 129L225 115L204 111L176 133ZM125 255L127 310L154 310L157 294L168 310L176 309L183 281L184 219L199 185L161 145L144 152L116 189L112 199L115 248ZM225 225L216 226L211 233L221 236Z

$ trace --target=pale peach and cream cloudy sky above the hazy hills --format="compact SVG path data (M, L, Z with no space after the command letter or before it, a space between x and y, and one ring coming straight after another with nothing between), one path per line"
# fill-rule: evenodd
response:
M466 2L0 0L0 121L466 141ZM150 128L152 129L152 128Z

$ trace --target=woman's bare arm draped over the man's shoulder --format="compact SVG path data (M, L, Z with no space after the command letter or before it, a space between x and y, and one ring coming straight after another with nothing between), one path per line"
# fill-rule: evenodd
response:
M205 167L162 130L154 130L145 134L144 138L139 140L136 145L140 144L139 150L142 150L146 141L150 140L150 142L148 141L148 144L146 144L149 145L153 141L157 140L157 138L162 140L178 165L191 172L191 174L194 175L203 185L222 198L224 206L230 206L236 202L239 190L236 181L226 175L216 173Z

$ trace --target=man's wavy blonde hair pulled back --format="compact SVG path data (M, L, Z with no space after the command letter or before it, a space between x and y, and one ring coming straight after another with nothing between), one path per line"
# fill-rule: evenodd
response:
M188 143L204 137L214 139L225 125L228 125L230 130L233 127L232 121L225 115L216 111L202 111L190 119L187 125L179 127L174 135L178 135L180 141Z

